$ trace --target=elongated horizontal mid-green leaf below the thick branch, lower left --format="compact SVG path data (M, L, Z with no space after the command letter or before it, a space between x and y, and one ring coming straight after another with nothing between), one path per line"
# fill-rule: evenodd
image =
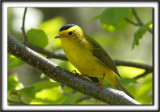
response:
M40 81L33 85L36 91L47 89L47 88L58 87L58 86L60 86L58 82L51 82L51 81Z

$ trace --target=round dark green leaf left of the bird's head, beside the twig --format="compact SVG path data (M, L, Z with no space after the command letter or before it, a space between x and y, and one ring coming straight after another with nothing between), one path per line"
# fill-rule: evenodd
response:
M48 44L48 38L47 35L43 30L38 29L30 29L27 32L27 39L28 42L32 45L44 48Z

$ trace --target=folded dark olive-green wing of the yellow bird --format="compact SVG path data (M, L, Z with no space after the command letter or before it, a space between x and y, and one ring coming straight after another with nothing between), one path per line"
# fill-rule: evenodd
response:
M121 77L120 74L118 73L116 65L114 64L112 59L109 57L107 52L101 47L101 45L91 37L86 36L86 40L93 46L93 49L92 49L93 55L105 66L109 67L117 75L119 75L119 77Z

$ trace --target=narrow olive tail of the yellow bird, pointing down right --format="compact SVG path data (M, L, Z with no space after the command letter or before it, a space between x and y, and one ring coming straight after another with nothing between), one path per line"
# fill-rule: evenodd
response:
M130 92L128 92L128 90L126 90L126 89L123 87L123 85L120 83L120 81L119 81L119 79L118 79L117 77L116 77L116 82L117 82L117 84L115 85L115 87L116 87L118 90L124 91L128 96L130 96L130 97L132 97L132 98L134 99L133 95L132 95Z

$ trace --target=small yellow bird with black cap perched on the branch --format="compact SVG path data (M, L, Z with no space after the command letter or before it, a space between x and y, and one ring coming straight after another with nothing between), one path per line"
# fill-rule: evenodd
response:
M68 60L81 73L89 77L103 77L112 86L133 98L118 80L117 76L120 77L120 75L107 52L98 42L87 36L81 27L66 24L60 28L59 35L55 38L60 38ZM98 83L100 88L103 85L103 79Z

